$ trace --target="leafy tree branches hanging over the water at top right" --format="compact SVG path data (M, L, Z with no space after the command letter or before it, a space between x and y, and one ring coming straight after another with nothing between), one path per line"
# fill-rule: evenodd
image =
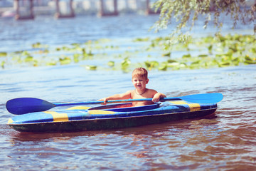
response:
M203 28L207 28L208 23L213 22L220 32L223 26L221 21L223 14L233 21L233 28L239 22L254 24L256 33L256 4L246 6L245 0L158 0L153 4L153 8L155 11L160 11L159 21L156 21L152 27L156 31L167 28L174 22L176 24L176 28L171 32L170 43L188 41L189 36L183 30L187 28L191 30L201 16L204 17Z

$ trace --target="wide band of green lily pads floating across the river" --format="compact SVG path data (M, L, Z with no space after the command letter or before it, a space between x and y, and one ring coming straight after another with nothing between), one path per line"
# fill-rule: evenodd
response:
M34 43L31 51L0 52L0 63L3 69L19 65L58 66L78 63L88 70L97 70L97 65L101 65L101 69L124 72L137 66L166 71L256 64L256 38L252 35L191 38L186 44L177 41L173 46L169 46L167 40L167 37L135 38L132 40L135 45L126 48L120 48L119 42L117 46L110 39L58 47ZM138 46L140 43L143 46ZM90 61L90 65L87 61Z

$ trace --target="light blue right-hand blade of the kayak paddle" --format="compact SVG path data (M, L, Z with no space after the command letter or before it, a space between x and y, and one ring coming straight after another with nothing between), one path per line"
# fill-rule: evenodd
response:
M206 93L206 94L194 94L194 95L186 95L181 98L182 100L186 100L193 103L218 103L223 100L223 95L221 93Z

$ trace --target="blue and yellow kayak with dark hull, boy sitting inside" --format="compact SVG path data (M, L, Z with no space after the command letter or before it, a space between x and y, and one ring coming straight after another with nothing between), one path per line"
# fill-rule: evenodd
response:
M201 118L215 113L216 109L216 103L189 103L184 100L139 107L132 107L132 103L95 108L76 106L17 115L9 119L8 124L15 130L31 133L106 130Z

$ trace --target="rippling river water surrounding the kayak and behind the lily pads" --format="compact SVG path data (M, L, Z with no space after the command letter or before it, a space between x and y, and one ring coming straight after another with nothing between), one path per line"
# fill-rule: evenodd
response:
M36 42L58 46L97 38L122 42L122 38L155 36L148 28L156 19L157 16L91 16L0 20L0 51L31 50L31 44ZM230 31L229 26L224 28ZM235 31L241 33L241 29L247 30L244 26ZM210 33L210 29L204 33ZM80 63L1 69L0 170L255 170L255 71L255 65L149 71L148 88L169 97L223 93L218 110L208 118L119 130L19 133L6 125L14 116L5 108L7 100L97 100L132 89L131 73L88 71Z

